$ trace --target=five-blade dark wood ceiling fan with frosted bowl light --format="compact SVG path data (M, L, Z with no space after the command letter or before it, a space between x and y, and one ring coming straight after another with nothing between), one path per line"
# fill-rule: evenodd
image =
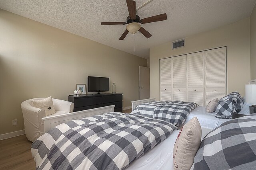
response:
M160 14L157 16L152 16L148 18L144 18L140 20L140 17L136 15L136 2L133 0L126 0L126 4L128 7L129 16L126 18L126 22L102 22L101 25L126 25L126 30L121 35L119 40L123 40L128 32L135 34L137 31L140 31L145 37L149 38L152 35L144 29L141 24L150 23L150 22L157 22L157 21L164 21L167 20L166 13Z

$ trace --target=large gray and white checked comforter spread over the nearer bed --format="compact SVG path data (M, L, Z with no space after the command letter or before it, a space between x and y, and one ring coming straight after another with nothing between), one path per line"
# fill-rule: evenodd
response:
M172 123L105 113L62 123L31 147L37 169L120 170L166 139Z

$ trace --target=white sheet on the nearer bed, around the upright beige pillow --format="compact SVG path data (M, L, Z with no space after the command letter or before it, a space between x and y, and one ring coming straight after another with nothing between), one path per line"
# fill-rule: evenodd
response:
M211 130L202 128L202 139ZM167 139L132 162L126 170L173 170L173 147L179 132L174 130Z

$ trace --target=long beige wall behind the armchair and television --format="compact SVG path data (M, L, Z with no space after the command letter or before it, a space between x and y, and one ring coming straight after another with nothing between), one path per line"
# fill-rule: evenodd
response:
M123 93L123 107L139 99L139 66L146 59L4 10L0 34L1 134L24 129L22 101L68 100L89 75L110 77L110 89L115 82L116 92Z

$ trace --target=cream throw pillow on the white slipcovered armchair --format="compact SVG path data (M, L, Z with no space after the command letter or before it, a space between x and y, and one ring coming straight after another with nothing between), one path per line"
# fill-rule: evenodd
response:
M33 99L32 104L36 108L44 109L46 116L51 115L56 112L54 109L54 106L53 106L52 96L42 99L42 100Z

